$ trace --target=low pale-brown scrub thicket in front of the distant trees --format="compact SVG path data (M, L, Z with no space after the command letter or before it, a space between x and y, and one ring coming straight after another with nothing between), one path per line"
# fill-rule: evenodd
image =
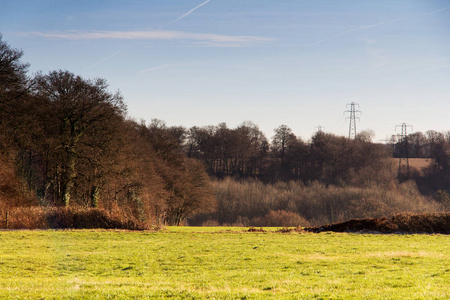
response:
M272 214L285 211L318 226L353 218L443 210L441 203L424 197L413 181L402 184L391 181L381 186L376 183L327 186L320 182L307 185L296 181L264 184L257 180L236 181L227 178L214 181L212 187L217 199L217 211L190 219L189 224L201 225L206 220L215 220L221 225L262 226L259 224L269 222L271 211ZM283 226L278 224L274 226ZM303 223L292 224L297 225Z

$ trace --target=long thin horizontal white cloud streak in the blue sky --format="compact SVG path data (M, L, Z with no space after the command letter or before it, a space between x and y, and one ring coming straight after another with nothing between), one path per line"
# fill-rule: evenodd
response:
M143 30L143 31L64 31L64 32L25 32L25 36L39 36L66 40L193 40L221 43L264 43L272 39L259 36L231 36L208 33L190 33L169 30Z

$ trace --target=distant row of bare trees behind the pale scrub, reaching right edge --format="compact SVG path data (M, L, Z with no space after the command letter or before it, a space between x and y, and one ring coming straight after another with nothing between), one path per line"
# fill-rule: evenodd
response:
M415 132L404 139L393 136L390 142L381 144L372 141L371 130L361 131L355 139L318 131L304 141L281 125L269 141L249 121L235 128L220 123L189 129L154 122L162 124L160 128L178 141L187 157L202 161L208 174L219 179L256 178L265 183L300 180L304 184L317 181L341 186L387 184L396 179L388 175L395 169L393 158L430 158L432 164L424 178L413 173L400 179L426 185L423 191L450 191L450 132Z

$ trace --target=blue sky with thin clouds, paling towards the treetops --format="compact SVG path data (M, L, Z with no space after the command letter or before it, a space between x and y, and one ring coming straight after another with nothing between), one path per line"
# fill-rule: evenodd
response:
M348 136L353 102L375 141L450 130L448 0L0 0L0 33L147 123Z

